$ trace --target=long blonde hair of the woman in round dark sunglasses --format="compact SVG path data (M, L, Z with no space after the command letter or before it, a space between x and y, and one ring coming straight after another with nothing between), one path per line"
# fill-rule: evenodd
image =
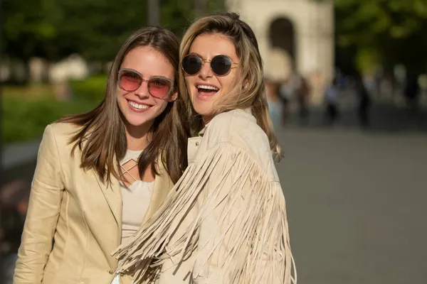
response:
M265 94L263 60L258 49L258 41L251 27L241 21L236 13L216 13L204 16L189 26L181 40L179 58L189 54L194 39L204 33L220 33L231 40L236 48L240 60L236 84L231 91L218 100L215 113L232 109L251 108L253 116L261 129L267 134L270 148L275 160L283 156L277 138L273 132L273 124L268 112L267 97ZM201 129L201 117L196 114L186 87L185 74L179 69L179 89L189 111L191 131L196 133Z

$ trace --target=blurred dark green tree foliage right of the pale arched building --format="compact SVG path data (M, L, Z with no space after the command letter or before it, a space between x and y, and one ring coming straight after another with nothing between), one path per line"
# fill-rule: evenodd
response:
M427 1L335 0L334 4L339 53L352 53L359 70L377 63L386 70L396 63L418 72L425 69Z

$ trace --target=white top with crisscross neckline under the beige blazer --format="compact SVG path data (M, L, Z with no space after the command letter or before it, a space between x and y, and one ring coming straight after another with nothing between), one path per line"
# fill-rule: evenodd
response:
M122 172L129 174L135 180L129 187L126 187L126 185L120 182L123 200L122 243L125 239L138 231L152 198L154 181L143 182L128 172L132 168L137 167L138 158L141 153L142 151L132 151L128 149L125 158L120 161ZM132 167L125 167L126 169L123 168L123 165L130 160L134 160L136 162L135 165Z

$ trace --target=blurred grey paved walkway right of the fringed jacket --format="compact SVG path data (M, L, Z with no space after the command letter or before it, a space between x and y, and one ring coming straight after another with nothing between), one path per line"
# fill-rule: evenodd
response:
M427 134L279 136L299 283L427 283Z

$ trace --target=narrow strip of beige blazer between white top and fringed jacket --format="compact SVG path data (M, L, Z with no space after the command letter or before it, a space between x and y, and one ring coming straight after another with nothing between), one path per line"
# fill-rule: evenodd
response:
M159 158L159 163L157 164L157 171L159 172L159 175L156 175L156 178L154 180L154 187L152 192L152 200L149 202L149 207L147 209L147 212L145 213L144 219L142 220L141 224L144 224L148 221L149 218L151 218L154 213L159 209L160 205L164 202L169 192L172 190L172 187L174 187L174 183L169 178L169 175L167 174L166 169L164 168L164 165L162 163L162 159Z

